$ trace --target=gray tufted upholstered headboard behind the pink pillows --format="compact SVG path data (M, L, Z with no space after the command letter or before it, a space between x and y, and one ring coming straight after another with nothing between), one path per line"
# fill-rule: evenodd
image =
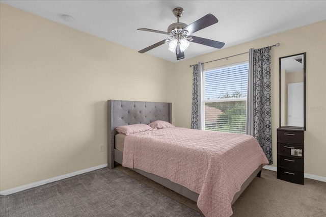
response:
M172 121L172 103L107 100L107 167L114 168L116 127L149 124L156 120Z

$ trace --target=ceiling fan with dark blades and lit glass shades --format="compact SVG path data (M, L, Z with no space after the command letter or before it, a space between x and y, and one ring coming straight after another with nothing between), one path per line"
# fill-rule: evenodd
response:
M197 36L192 36L193 33L202 30L214 23L219 22L219 20L212 14L207 14L203 16L202 18L196 20L192 24L185 24L183 22L179 22L179 18L183 14L182 8L175 8L173 9L174 16L177 17L177 22L172 23L168 27L168 32L158 31L158 30L150 30L150 29L138 29L141 31L147 31L147 32L153 32L153 33L161 33L170 36L168 39L164 39L160 42L157 42L156 44L153 44L149 47L146 47L138 52L144 53L147 52L155 47L158 47L159 45L165 44L167 42L169 43L169 50L171 52L176 52L177 54L177 60L181 60L184 58L184 51L189 46L189 41L195 42L198 44L207 45L210 47L215 48L222 48L225 43L220 41L214 41L206 38L201 38Z

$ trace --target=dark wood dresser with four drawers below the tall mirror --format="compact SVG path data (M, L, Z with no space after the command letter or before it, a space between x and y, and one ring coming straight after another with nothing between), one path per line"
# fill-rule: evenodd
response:
M304 184L303 127L282 126L277 129L277 178Z

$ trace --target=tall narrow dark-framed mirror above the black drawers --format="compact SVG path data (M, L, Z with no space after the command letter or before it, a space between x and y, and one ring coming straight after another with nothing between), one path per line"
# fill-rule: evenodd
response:
M306 130L306 53L280 58L280 127Z

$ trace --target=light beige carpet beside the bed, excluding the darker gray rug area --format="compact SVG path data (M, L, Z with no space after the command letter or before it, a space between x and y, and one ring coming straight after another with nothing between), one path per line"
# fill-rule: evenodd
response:
M117 169L170 198L200 211L196 203L122 166ZM326 182L305 178L305 185L277 179L274 171L262 170L232 205L233 217L326 216Z

